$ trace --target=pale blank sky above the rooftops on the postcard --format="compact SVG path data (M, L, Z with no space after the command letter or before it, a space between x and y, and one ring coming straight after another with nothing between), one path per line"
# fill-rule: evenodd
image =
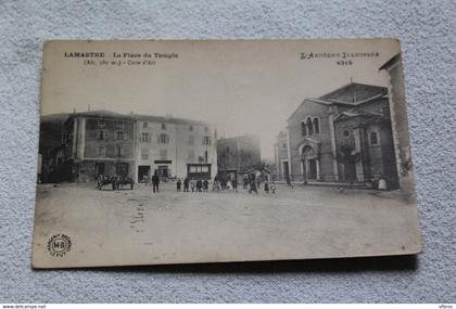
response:
M104 57L65 56L71 52L102 52ZM352 65L338 65L340 57L301 59L301 53L311 52L378 56L357 56ZM391 39L52 41L45 48L41 115L84 112L90 105L92 111L203 120L227 138L258 136L262 157L271 159L277 134L305 98L324 95L351 80L385 87L387 76L379 67L398 52L398 42Z

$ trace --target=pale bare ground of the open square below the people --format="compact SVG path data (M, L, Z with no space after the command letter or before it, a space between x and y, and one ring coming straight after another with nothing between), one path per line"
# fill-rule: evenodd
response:
M137 184L40 184L36 266L106 266L409 254L420 249L417 209L400 192L278 184L276 194L159 193ZM72 239L56 259L46 243Z

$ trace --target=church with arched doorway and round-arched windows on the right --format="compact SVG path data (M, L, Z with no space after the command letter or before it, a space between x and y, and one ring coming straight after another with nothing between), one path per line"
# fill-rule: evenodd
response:
M397 186L388 89L351 82L306 99L276 143L279 177Z

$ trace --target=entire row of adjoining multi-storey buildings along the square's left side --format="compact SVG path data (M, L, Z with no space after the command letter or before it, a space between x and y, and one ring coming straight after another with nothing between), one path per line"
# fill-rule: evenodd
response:
M100 173L138 182L154 171L163 180L211 179L217 171L217 131L210 124L107 111L62 117L41 121L39 176L45 182L91 181Z

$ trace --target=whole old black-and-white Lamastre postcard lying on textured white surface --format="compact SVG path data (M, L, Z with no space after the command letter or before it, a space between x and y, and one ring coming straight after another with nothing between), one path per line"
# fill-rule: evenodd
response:
M47 41L35 268L421 250L395 39Z

